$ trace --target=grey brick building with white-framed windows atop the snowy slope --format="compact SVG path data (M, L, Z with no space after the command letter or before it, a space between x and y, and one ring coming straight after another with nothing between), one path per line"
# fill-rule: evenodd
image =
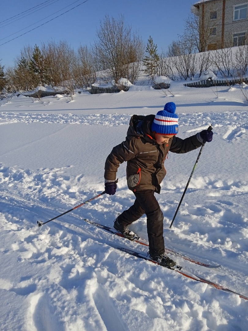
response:
M202 51L244 45L248 39L248 2L201 0L193 5L200 19L200 34L208 38ZM200 42L203 40L200 36Z

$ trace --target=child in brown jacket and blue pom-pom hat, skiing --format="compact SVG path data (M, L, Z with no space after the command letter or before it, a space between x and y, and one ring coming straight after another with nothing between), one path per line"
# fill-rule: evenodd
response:
M176 105L169 102L156 116L133 115L126 140L115 146L105 162L105 192L116 192L116 172L121 163L127 162L127 185L136 199L128 210L114 220L114 228L125 238L134 240L135 234L128 226L146 214L149 255L165 267L174 267L164 250L163 213L154 196L160 193L160 183L166 175L164 161L169 151L187 153L200 147L203 141L212 141L213 132L203 130L186 139L176 137L178 116Z

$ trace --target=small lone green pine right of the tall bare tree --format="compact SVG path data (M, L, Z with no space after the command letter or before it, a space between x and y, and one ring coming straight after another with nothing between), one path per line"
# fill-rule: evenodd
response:
M151 36L148 39L145 53L147 54L143 59L143 66L145 66L145 73L147 73L153 82L154 76L157 73L159 64L159 55L157 54L157 45L154 44Z

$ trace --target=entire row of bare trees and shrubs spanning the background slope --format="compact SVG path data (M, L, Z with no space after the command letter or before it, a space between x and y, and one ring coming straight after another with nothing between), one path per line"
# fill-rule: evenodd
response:
M14 67L5 69L0 60L0 93L2 90L8 93L29 91L48 85L61 86L73 94L76 88L86 89L97 80L117 83L120 78L135 84L141 70L147 74L148 83L153 83L157 76L191 80L209 68L225 78L244 77L248 68L248 46L239 46L235 53L228 45L225 49L201 52L200 45L208 42L210 32L205 31L203 36L199 18L191 15L186 20L183 36L172 41L161 54L151 36L145 47L140 34L133 32L123 16L110 19L107 15L100 22L90 47L80 45L75 51L67 41L53 40L42 43L41 47L25 46L15 59Z

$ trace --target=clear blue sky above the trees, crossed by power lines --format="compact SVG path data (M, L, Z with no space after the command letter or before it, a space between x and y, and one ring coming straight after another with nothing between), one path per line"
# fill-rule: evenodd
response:
M75 50L80 44L90 46L96 38L96 29L99 28L100 21L104 20L105 14L110 18L118 18L118 15L122 14L125 22L131 24L133 30L140 32L145 44L151 35L160 53L162 49L166 51L168 45L178 39L179 34L183 34L190 7L196 2L196 0L157 0L154 3L151 0L84 1L1 0L0 44L4 43L0 46L1 64L5 67L13 66L14 59L24 46L34 47L35 44L40 46L41 42L52 39L55 42L67 40ZM22 18L24 13L18 15L33 7L36 8L26 12L30 15ZM76 8L72 9L73 7ZM61 10L62 8L64 9ZM61 15L66 11L68 12ZM55 18L58 15L61 16ZM8 20L10 18L13 19ZM49 20L52 21L44 24ZM38 25L41 26L37 27ZM31 29L34 30L25 33ZM21 34L23 35L9 41Z

